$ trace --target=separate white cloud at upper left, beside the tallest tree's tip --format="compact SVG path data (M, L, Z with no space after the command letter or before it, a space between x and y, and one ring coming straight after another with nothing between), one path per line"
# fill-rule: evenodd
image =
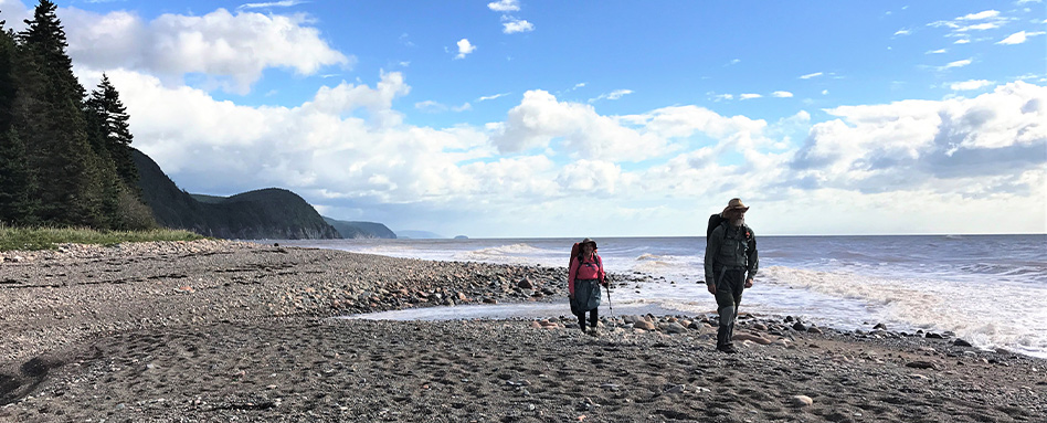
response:
M304 15L261 14L224 9L202 17L162 14L151 22L116 11L59 11L74 63L93 68L141 70L169 84L202 73L213 85L246 94L268 67L313 75L325 66L350 66L355 59L334 50Z

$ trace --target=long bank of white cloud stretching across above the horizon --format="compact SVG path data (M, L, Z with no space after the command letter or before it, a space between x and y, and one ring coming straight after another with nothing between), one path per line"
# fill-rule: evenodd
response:
M81 77L88 86L97 81L97 74ZM836 119L815 124L807 145L794 150L787 137L769 134L779 134L774 126L806 127L805 112L771 127L692 105L605 116L530 91L505 121L434 129L408 125L393 109L410 93L399 73L382 74L372 86L324 87L297 107L237 106L128 71L109 77L133 116L135 146L191 192L277 186L334 218L430 229L465 219L451 230L457 233L522 235L499 232L522 222L546 231L531 235L552 236L637 215L678 225L695 218L683 212L695 209L694 199L732 195L752 198L768 213L774 204L823 198L848 199L855 210L877 209L872 198L951 202L956 210L948 219L921 226L933 232L928 228L976 215L965 211L966 201L990 201L985 195L1043 203L1036 195L1044 189L1036 187L1047 181L1045 158L1030 154L1047 148L1047 88L1025 83L972 99L828 109ZM649 162L623 165L642 160ZM680 198L687 204L674 200ZM644 211L643 203L664 208ZM600 218L574 218L586 213ZM852 218L881 221L872 216ZM763 228L781 233L792 226ZM849 226L842 220L817 228Z

